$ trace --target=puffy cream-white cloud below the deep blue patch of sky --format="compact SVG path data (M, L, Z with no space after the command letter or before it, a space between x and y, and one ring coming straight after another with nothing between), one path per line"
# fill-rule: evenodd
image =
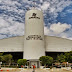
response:
M61 24L60 22L58 22L57 24L52 24L50 26L50 30L52 30L55 34L60 34L62 32L64 32L66 29L70 29L71 25L68 25L66 23Z

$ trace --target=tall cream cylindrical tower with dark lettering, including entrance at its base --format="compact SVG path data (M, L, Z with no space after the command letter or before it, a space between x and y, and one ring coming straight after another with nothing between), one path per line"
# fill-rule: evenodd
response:
M29 61L29 66L39 67L39 57L45 56L43 24L42 11L33 8L26 12L23 58Z

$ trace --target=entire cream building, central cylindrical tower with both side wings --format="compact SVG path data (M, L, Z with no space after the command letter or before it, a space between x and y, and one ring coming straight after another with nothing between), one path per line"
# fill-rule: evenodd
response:
M72 51L72 40L44 35L43 13L31 9L25 15L25 35L0 40L0 52L22 54L29 67L40 67L39 57L55 57L59 53Z

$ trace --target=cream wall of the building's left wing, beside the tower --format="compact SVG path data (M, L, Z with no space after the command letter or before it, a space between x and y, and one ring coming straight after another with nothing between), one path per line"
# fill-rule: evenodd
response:
M12 37L0 40L0 52L22 52L24 37Z

